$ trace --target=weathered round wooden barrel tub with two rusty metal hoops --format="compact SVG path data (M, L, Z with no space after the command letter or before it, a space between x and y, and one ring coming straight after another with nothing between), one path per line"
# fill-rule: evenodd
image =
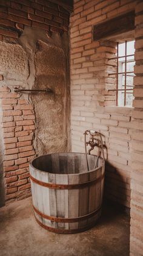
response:
M32 201L36 221L56 233L90 229L101 215L105 165L101 157L55 153L30 162Z

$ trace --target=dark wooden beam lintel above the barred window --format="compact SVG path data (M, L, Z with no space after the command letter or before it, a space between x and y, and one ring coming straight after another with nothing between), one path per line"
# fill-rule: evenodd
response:
M128 12L93 27L93 40L109 38L135 29L135 12Z

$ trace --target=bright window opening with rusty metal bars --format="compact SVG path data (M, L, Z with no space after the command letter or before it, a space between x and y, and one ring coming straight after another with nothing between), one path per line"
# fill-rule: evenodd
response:
M117 43L116 57L110 60L116 60L116 73L110 73L109 76L116 75L116 105L132 106L133 103L133 77L135 65L135 41L125 41Z

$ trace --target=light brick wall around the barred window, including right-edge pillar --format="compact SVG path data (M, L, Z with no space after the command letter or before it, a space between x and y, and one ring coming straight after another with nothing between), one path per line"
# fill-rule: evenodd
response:
M93 24L135 10L135 90L133 108L114 107L115 54L110 41L93 41ZM84 152L82 133L96 129L107 146L105 197L131 207L130 255L142 255L142 49L143 2L131 0L75 0L70 21L71 143ZM112 106L111 106L112 105Z

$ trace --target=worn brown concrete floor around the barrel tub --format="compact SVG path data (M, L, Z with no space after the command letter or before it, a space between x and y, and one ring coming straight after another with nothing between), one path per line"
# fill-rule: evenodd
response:
M24 199L0 209L0 255L128 256L129 218L106 206L93 229L73 235L55 234L37 224L32 199Z

